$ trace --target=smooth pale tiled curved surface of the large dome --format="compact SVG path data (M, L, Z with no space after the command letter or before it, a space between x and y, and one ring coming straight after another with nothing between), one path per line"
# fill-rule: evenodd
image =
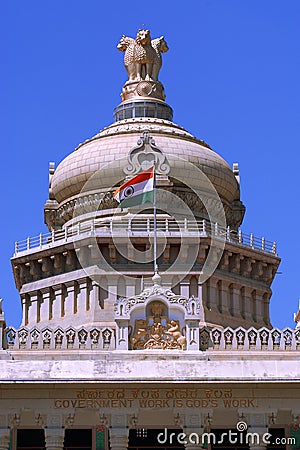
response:
M114 124L101 131L94 138L81 144L67 156L57 167L52 179L52 191L58 203L77 195L83 185L98 170L105 169L98 182L99 187L112 185L111 173L118 181L124 179L124 167L116 173L115 165L106 167L110 162L126 158L136 145L141 133L148 129L155 138L156 145L166 153L184 157L201 168L214 184L218 194L228 202L239 197L238 183L232 170L221 156L182 128L171 122L157 120L131 119Z

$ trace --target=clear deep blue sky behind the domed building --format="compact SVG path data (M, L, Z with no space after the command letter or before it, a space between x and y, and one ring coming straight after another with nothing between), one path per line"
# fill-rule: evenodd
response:
M271 320L298 308L300 2L10 0L0 4L0 296L21 317L14 241L46 231L49 161L112 122L126 80L122 34L165 36L160 80L174 121L239 162L242 229L278 242Z

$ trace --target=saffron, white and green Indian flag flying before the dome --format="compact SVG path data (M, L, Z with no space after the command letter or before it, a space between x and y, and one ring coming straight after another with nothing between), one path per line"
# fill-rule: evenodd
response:
M114 198L121 203L122 208L128 206L153 203L154 197L154 166L122 184L115 192Z

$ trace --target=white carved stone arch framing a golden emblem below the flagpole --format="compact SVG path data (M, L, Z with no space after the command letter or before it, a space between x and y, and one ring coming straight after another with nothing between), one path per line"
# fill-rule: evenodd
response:
M119 350L199 350L199 299L154 284L115 304Z

